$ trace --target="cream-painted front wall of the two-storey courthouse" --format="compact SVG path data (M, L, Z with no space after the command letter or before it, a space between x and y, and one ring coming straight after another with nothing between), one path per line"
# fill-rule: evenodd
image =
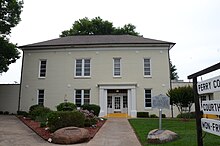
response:
M121 58L121 77L113 77L113 58ZM91 58L91 78L76 78L75 60ZM144 77L143 59L151 59L152 76ZM47 59L45 79L38 78L39 60ZM66 98L74 102L74 89L90 89L90 102L100 103L99 84L136 84L136 110L158 114L158 110L145 109L144 89L152 89L152 96L166 94L170 88L167 47L154 48L93 48L50 51L24 51L22 72L21 109L37 104L37 90L45 89L45 106L55 106ZM165 111L170 116L170 111Z

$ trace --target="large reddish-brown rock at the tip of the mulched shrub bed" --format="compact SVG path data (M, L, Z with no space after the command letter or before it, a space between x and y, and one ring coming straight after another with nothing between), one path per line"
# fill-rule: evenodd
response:
M88 141L89 131L78 127L65 127L58 129L52 135L52 142L57 144L74 144Z

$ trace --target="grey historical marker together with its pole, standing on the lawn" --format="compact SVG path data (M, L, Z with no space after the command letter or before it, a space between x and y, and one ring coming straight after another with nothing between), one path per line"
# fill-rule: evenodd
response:
M170 98L163 94L152 97L152 108L159 109L159 130L162 130L162 109L170 109Z

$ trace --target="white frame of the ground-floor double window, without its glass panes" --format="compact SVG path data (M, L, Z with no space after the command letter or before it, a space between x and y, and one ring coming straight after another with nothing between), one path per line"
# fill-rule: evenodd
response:
M80 91L80 106L78 106L76 99L77 99L77 91ZM86 94L85 91L88 91L89 94ZM85 98L85 96L89 96L89 98ZM78 98L79 99L79 98ZM74 90L74 103L76 104L77 107L81 107L82 105L85 104L85 100L89 100L89 103L86 104L90 104L91 103L91 90L90 89L75 89Z

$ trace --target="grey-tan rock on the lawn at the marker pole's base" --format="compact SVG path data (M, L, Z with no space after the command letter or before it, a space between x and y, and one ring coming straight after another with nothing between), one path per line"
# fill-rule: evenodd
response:
M147 140L149 143L160 144L178 139L178 135L170 130L154 129L148 133Z

